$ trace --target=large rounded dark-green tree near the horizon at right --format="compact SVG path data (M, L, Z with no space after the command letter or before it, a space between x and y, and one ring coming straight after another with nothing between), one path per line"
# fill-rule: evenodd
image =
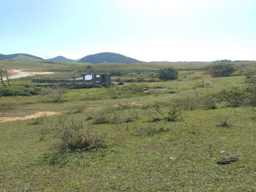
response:
M234 64L230 63L214 63L204 67L207 72L212 73L214 77L227 77L235 71Z

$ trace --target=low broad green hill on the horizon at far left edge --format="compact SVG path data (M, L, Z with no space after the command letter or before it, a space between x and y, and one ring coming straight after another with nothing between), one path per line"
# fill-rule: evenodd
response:
M16 53L16 54L10 54L10 55L3 55L0 54L0 60L3 61L14 61L14 62L42 62L44 61L43 58L30 55L30 54L24 54L24 53Z

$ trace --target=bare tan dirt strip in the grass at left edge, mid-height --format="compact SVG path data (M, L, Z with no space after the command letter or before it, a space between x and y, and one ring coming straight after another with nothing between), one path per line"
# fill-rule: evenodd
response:
M38 118L41 116L52 116L52 115L59 115L60 112L54 112L54 111L42 111L42 112L36 112L32 115L24 116L24 117L1 117L0 122L11 122L16 120L26 120L26 119L33 119Z

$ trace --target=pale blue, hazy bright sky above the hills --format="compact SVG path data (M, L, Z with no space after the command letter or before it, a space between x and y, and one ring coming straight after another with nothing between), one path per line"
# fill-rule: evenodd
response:
M256 0L0 0L0 54L256 60Z

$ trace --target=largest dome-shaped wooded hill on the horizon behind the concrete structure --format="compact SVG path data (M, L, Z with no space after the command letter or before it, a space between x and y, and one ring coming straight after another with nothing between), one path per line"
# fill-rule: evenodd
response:
M110 53L110 52L104 52L104 53L97 53L93 55L85 56L84 58L80 59L78 62L84 62L84 63L138 63L139 60L126 57L124 55L118 54L118 53Z

